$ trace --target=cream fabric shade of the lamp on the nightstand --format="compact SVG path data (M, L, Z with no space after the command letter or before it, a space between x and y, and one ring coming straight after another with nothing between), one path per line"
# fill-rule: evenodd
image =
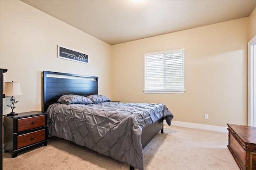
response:
M19 82L4 82L4 92L6 96L21 96Z

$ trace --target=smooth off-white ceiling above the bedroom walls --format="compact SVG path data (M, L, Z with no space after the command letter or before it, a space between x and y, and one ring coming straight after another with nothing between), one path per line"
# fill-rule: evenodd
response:
M250 16L256 0L21 0L110 45Z

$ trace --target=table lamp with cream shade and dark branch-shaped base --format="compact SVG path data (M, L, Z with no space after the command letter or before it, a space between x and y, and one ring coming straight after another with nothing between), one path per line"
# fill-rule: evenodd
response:
M12 102L12 105L7 105L12 109L12 112L7 114L7 116L13 116L18 115L18 113L15 113L13 109L15 108L14 104L18 103L18 101L15 101L13 99L13 96L21 96L23 95L20 91L20 83L18 82L4 82L4 92L6 96L11 96L10 101Z

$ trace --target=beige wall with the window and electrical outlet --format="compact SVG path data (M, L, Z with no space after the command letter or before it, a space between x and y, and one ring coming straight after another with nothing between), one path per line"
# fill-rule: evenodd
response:
M164 103L174 121L247 125L248 22L247 17L113 45L112 99ZM143 93L144 53L179 48L185 48L186 93Z

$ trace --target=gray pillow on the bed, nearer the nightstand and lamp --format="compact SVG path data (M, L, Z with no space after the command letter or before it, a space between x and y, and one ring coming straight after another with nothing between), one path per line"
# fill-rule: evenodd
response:
M93 104L93 102L89 98L80 95L63 95L58 99L58 102L62 104Z

